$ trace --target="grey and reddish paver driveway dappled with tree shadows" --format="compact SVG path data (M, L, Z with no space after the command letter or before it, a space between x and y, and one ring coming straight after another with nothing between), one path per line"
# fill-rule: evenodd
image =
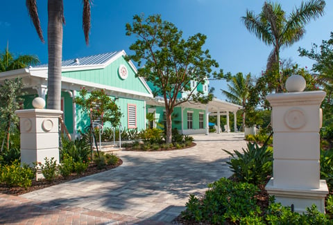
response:
M189 194L231 172L225 150L244 134L193 135L196 146L167 152L117 152L123 165L19 197L0 195L0 224L171 224Z

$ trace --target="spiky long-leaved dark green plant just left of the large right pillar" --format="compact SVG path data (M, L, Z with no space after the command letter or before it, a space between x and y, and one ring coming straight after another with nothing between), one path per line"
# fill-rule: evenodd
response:
M273 152L267 150L267 146L259 147L257 143L248 142L243 154L234 150L234 154L228 153L232 158L228 161L230 169L239 181L248 183L262 183L273 172Z

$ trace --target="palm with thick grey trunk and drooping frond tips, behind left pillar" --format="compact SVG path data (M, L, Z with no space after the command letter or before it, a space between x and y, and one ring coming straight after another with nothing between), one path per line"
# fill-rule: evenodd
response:
M36 0L26 0L28 13L37 30L40 40L44 42ZM49 47L49 72L47 80L47 107L60 110L61 98L61 62L62 62L62 24L65 24L63 0L48 0L49 21L47 37ZM90 1L83 0L83 31L85 42L89 43Z

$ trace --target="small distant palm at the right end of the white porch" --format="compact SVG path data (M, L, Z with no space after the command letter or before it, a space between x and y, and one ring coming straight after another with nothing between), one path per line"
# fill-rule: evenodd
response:
M243 73L237 73L232 76L228 83L228 90L225 91L221 89L222 93L228 98L228 100L234 104L241 105L243 113L241 114L243 118L242 128L245 127L245 106L246 100L248 99L249 89L251 84L251 73L246 75L244 78Z

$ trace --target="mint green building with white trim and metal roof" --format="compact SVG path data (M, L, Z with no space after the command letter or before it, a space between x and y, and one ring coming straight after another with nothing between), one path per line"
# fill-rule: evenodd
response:
M164 102L153 98L151 87L144 78L136 78L137 69L132 62L124 59L125 51L103 53L88 57L78 57L62 62L63 120L72 136L89 126L87 115L73 102L83 87L88 90L105 89L116 100L121 109L123 129L146 129L146 113L153 113L158 123L164 123ZM24 82L24 109L31 109L33 98L47 97L47 64L0 73L0 83L5 79L21 77ZM191 86L195 87L195 83ZM207 93L209 82L199 84L197 91ZM152 87L153 88L153 87ZM183 97L187 93L182 93ZM173 127L182 134L208 134L208 116L218 116L229 112L236 114L241 106L214 99L207 105L186 102L174 111ZM236 118L236 116L234 116ZM157 122L156 121L156 122ZM153 123L151 127L157 127ZM235 123L236 124L236 123ZM105 125L108 126L108 125ZM237 130L237 129L235 129Z

